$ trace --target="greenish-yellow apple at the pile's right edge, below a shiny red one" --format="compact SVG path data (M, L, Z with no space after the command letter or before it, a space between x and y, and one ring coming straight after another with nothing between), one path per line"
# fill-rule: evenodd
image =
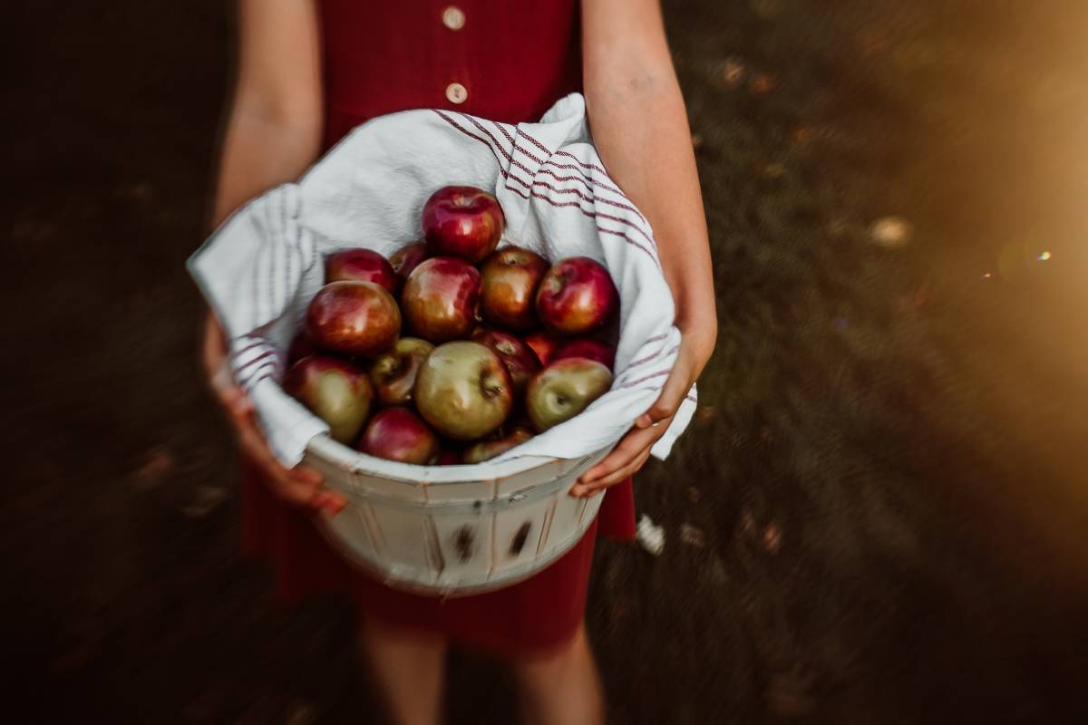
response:
M595 360L553 361L529 382L526 405L539 433L569 421L611 387L611 371Z

